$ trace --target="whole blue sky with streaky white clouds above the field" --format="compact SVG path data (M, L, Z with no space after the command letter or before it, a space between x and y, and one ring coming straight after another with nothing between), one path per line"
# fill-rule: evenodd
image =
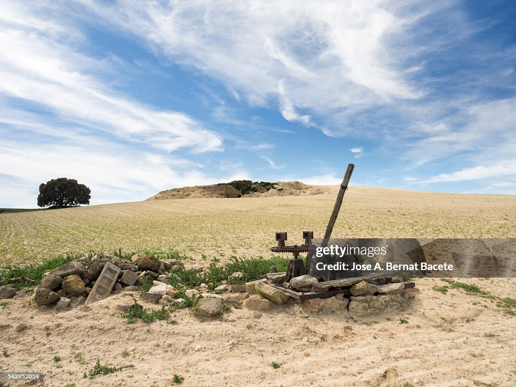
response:
M276 4L277 3L277 4ZM512 1L0 4L0 207L298 180L516 195Z

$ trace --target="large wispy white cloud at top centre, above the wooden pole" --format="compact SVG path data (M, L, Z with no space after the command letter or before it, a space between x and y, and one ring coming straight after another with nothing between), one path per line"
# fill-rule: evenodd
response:
M82 0L106 24L124 28L176 62L218 79L251 105L279 102L288 121L352 115L421 96L397 62L413 17L381 1L276 3ZM300 113L299 111L303 111ZM338 135L342 121L325 133Z

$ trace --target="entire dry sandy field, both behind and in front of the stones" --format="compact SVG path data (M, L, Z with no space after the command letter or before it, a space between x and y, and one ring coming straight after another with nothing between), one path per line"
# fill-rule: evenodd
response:
M321 236L336 196L178 199L0 215L0 259L23 263L66 251L168 252L207 263L271 255L274 232ZM516 237L516 197L351 187L336 237ZM203 259L204 254L206 257ZM462 279L516 298L516 280ZM357 386L514 387L516 316L439 279L403 311L367 317L311 314L291 300L268 312L231 309L202 320L127 325L118 304L136 294L56 313L32 296L0 306L0 370L42 372L41 387ZM140 301L141 302L141 301ZM156 305L144 304L156 309ZM406 322L406 324L401 324ZM27 328L15 330L24 323ZM60 360L56 361L55 357ZM96 360L132 368L83 378ZM272 362L280 365L275 369ZM173 383L173 375L184 377ZM73 384L71 384L73 383ZM10 386L29 385L11 382Z

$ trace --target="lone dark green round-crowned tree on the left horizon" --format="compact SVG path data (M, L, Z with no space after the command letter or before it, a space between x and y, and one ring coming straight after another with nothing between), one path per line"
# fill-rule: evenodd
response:
M90 204L91 190L75 179L52 179L39 186L38 206L53 208Z

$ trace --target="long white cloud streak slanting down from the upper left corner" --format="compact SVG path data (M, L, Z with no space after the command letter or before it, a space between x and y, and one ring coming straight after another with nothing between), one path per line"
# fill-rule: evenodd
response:
M222 149L220 136L187 115L133 102L97 79L91 73L109 72L111 64L60 42L69 39L67 25L26 11L7 12L1 22L0 95L7 101L30 101L69 122L167 152L182 147L194 152Z

